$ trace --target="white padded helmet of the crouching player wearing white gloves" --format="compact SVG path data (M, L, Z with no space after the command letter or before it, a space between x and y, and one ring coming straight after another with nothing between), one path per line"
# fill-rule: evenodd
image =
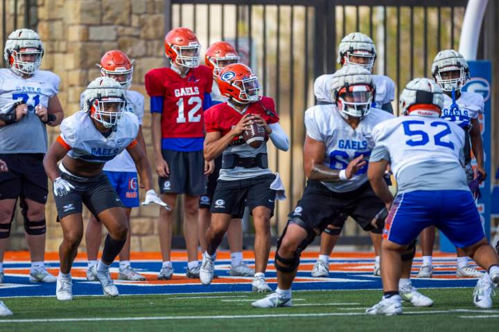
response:
M83 93L83 111L94 120L112 128L118 124L126 106L125 91L119 82L110 77L98 77Z

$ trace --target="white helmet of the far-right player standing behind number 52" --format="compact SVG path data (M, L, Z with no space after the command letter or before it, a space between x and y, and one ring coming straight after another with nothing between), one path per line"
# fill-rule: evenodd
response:
M442 77L442 74L452 71L459 71L459 77ZM469 80L468 62L457 50L441 50L433 59L432 75L442 90L459 90Z

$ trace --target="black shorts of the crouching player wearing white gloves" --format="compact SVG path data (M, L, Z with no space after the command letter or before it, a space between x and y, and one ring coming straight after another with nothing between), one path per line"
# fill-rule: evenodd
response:
M125 208L104 172L91 178L77 178L66 173L62 173L61 177L75 189L64 196L54 196L59 219L69 214L82 213L83 203L96 217L110 208Z

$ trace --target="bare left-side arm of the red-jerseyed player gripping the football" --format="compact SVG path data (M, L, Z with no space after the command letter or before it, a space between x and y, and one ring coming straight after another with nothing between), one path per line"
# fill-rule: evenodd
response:
M247 129L253 118L253 114L246 114L239 120L236 126L224 136L221 136L218 131L207 133L206 138L204 138L204 160L210 161L220 156L232 142L233 138L239 136Z

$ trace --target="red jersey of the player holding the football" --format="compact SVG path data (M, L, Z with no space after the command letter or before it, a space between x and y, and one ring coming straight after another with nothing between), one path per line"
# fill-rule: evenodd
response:
M265 109L267 111L265 111ZM248 107L244 114L257 114L263 118L268 124L279 122L279 116L275 111L274 100L268 97L261 98L261 104L259 102L252 102L248 104ZM271 116L270 113L273 115ZM231 131L243 115L236 111L233 107L227 104L227 102L222 102L221 104L216 104L210 107L204 112L204 122L207 133L213 131L220 131L222 136ZM234 137L234 140L243 139L241 134L239 137Z

